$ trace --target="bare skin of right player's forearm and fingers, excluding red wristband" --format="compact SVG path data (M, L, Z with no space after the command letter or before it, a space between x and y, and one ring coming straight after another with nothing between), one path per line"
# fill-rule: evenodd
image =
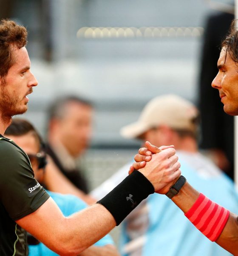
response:
M140 148L139 154L136 154L135 161L133 166L131 166L130 170L140 169L142 165L147 164L145 157L149 154L147 151L150 151L151 154L156 154L159 151L154 145L151 145L149 142L146 142L147 148ZM141 164L140 161L144 161ZM175 180L176 181L176 180ZM175 181L173 183L175 183ZM165 191L168 191L168 186L165 187ZM163 190L161 190L163 191ZM163 191L164 192L164 191ZM164 194L164 193L162 193ZM198 199L199 192L196 191L188 182L182 186L179 190L178 194L175 195L171 200L184 212L188 212L188 210L193 206L195 201ZM225 225L221 235L215 241L225 250L229 251L235 256L238 256L238 216L234 213L230 212L229 219L227 224Z

